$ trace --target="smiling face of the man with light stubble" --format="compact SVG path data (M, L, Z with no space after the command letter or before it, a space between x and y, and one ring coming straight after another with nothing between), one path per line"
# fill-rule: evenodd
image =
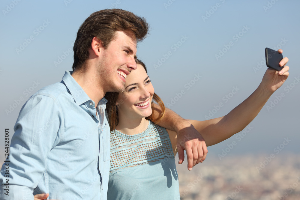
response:
M131 31L116 31L115 40L104 50L98 66L104 92L122 92L125 89L126 76L137 68L136 54L135 35Z

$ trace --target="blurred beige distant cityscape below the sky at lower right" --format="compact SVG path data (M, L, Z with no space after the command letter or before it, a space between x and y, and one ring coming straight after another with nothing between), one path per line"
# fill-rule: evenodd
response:
M177 165L182 200L299 200L300 156L207 159L192 171Z

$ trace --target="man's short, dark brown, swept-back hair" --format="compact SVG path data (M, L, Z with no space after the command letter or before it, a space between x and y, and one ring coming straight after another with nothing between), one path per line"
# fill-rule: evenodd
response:
M99 10L92 13L77 32L73 47L73 71L75 68L82 67L88 58L88 49L91 48L91 41L94 37L100 39L102 46L107 48L115 39L116 31L127 30L132 31L139 42L148 36L149 25L145 18L122 9Z

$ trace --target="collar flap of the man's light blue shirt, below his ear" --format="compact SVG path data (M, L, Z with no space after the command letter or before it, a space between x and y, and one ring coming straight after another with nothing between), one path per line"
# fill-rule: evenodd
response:
M66 71L62 80L64 84L67 86L68 90L70 91L72 97L74 98L77 105L81 105L87 101L90 101L91 98L85 93L82 87L75 81L71 74L73 71Z

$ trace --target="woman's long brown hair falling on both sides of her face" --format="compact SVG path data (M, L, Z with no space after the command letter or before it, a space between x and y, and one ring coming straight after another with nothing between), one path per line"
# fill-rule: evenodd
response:
M137 64L142 65L147 73L146 65L139 59L136 59L136 62L137 62ZM115 130L116 126L119 124L118 109L116 106L118 97L119 97L118 92L107 92L105 94L105 98L107 99L106 111L107 111L108 119L109 119L109 123L110 123L110 131ZM158 105L161 107L160 112L158 110L156 110L159 113L159 115L157 117L155 117L153 114L153 111L154 111L153 100L155 100L156 103L158 103ZM146 117L146 119L147 120L149 119L153 123L157 124L164 117L165 105L164 105L164 102L161 100L161 98L155 93L153 94L153 97L152 97L151 109L152 109L152 114L149 117Z

